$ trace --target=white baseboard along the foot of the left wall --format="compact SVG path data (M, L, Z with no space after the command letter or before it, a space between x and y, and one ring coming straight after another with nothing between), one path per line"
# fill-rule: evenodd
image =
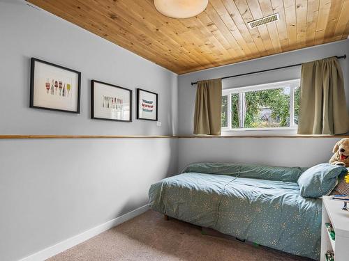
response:
M128 221L128 219L133 219L135 216L138 216L146 212L148 209L149 209L149 205L144 205L142 207L139 207L138 209L128 212L122 216L119 216L116 219L107 221L99 226L91 228L90 230L82 232L79 235L70 237L64 240L63 242L59 242L54 246L49 246L48 248L45 248L42 251L34 253L33 255L29 255L27 256L27 258L22 258L20 261L42 261L47 258L51 258L53 255L57 255L58 253L66 251L68 248L76 246L77 244L80 244L81 242L84 242L87 239L90 239L91 237L101 234L101 232L104 232L110 228L113 228L114 226L117 226L121 223L124 223L125 221Z

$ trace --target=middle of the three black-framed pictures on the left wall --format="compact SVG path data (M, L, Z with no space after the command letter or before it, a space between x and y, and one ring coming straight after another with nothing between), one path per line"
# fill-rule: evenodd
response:
M132 121L132 90L101 81L91 81L93 119Z

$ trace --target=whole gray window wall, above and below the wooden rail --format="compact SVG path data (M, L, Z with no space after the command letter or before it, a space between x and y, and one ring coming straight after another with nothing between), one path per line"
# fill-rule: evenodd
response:
M193 112L196 88L192 81L214 79L232 74L242 74L275 68L295 63L313 61L328 56L349 57L349 40L277 54L253 61L226 65L179 76L179 134L193 133ZM349 109L349 58L340 60ZM299 79L300 67L275 70L245 77L223 80L223 88L237 88L255 84ZM249 132L249 135L255 135ZM268 135L269 133L264 133ZM280 133L279 133L280 134ZM229 135L229 133L227 134ZM237 135L237 134L230 134ZM242 135L240 133L240 135ZM287 133L285 133L287 135ZM339 139L284 139L284 138L224 138L224 139L179 139L179 169L192 162L225 161L270 164L276 166L312 166L327 162L332 156L334 143Z

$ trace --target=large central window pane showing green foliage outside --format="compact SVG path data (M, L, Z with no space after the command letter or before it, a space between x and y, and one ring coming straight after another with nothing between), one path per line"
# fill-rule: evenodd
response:
M244 96L245 128L290 126L290 88L256 90Z

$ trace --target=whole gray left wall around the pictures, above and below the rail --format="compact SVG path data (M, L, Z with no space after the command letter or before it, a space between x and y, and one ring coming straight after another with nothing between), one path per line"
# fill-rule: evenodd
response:
M0 35L0 134L176 134L177 74L24 1L0 1ZM29 109L32 56L82 72L79 115ZM91 120L91 79L158 93L162 126ZM177 155L177 139L0 140L0 260L145 205Z

